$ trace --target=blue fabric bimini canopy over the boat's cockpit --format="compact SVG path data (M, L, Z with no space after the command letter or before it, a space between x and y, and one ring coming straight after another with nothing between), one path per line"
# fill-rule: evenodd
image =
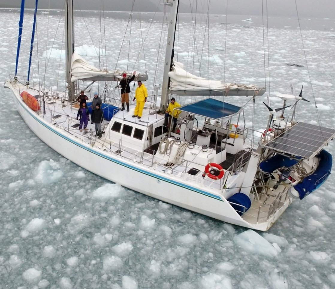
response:
M221 119L240 112L242 108L227 104L221 100L207 98L194 104L180 107L178 110L211 119Z

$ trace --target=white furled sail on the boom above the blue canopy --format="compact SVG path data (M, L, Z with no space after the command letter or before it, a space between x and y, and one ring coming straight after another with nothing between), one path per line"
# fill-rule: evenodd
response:
M193 75L182 63L173 62L173 70L169 72L170 92L174 95L263 95L265 87L237 83L222 83L219 80L206 80Z

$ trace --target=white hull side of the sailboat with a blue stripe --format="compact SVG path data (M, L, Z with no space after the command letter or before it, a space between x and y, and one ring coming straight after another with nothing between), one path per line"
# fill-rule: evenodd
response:
M49 147L82 168L126 188L224 222L262 231L268 230L289 204L284 204L272 220L251 224L211 188L201 183L194 184L192 180L171 177L153 167L92 147L63 128L52 125L41 117L42 114L32 111L20 97L17 85L7 81L5 87L13 91L17 110L24 122Z

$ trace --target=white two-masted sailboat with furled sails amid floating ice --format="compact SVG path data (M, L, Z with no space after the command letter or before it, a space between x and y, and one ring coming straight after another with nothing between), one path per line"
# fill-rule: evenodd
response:
M68 91L42 88L17 75L4 84L12 90L28 127L56 152L144 195L261 231L268 230L294 198L304 198L326 180L332 157L323 148L335 129L288 121L284 108L268 107L266 129L254 148L248 141L253 132L241 125L244 108L218 96L255 98L265 87L209 81L173 61L178 0L163 0L171 11L160 107L146 106L141 119L132 117L133 108L113 108L113 118L103 122L102 138L90 125L89 133L80 133L78 107L72 101L78 94L75 82L118 81L123 72L95 69L74 53L72 0L66 2ZM136 79L144 81L147 76L137 74ZM207 96L178 108L177 131L164 126L160 113L173 95ZM276 117L279 111L281 116Z

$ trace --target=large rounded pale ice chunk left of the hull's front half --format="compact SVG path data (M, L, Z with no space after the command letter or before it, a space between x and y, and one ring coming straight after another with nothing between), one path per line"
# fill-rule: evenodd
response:
M42 183L52 183L63 176L60 165L53 160L42 161L37 169L35 179Z

